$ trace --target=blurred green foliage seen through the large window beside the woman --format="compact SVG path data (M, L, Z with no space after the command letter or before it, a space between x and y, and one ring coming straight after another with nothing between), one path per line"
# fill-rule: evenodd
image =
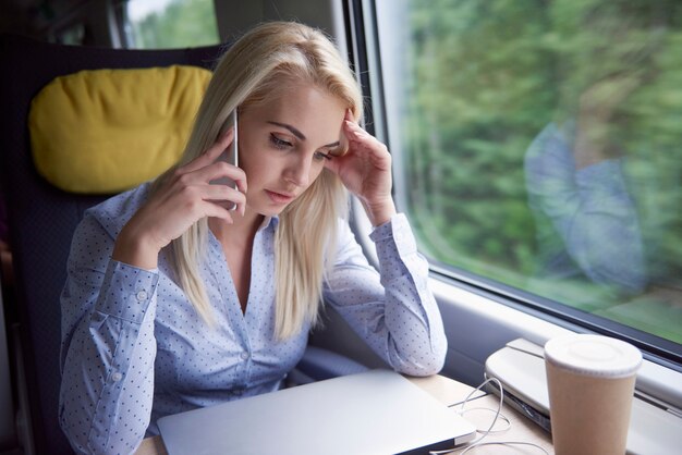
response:
M422 249L682 343L682 3L406 3L402 142ZM551 226L528 206L524 159L548 124L580 122L587 104L635 205L646 272L636 294L543 276L538 237Z

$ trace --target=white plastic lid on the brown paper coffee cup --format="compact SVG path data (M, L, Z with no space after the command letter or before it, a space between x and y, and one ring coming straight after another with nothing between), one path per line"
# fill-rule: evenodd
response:
M545 359L580 374L623 378L640 369L642 353L620 340L576 333L549 340Z

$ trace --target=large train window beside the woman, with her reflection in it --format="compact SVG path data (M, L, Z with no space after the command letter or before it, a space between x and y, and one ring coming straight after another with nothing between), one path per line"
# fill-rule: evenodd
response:
M397 199L434 269L680 362L682 3L374 12Z

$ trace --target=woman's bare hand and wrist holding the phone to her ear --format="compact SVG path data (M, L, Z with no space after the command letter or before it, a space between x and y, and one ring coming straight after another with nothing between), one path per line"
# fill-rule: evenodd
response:
M215 217L232 223L236 211L244 214L246 202L246 175L241 169L218 157L232 144L232 128L187 164L178 168L149 200L123 226L114 247L112 259L141 269L155 269L161 248L180 237L196 221ZM236 183L211 184L229 177ZM234 202L238 210L226 207Z

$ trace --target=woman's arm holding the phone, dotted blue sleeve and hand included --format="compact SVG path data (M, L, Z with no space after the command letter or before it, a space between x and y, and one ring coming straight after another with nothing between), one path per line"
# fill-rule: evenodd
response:
M229 210L216 201L244 210L244 173L216 162L232 137L230 130L148 197L137 190L89 212L75 233L62 294L60 421L77 451L127 453L145 434L154 395L158 256L202 218L230 222ZM210 184L222 176L240 190ZM121 206L106 211L115 204ZM111 221L121 211L130 218L122 226Z

